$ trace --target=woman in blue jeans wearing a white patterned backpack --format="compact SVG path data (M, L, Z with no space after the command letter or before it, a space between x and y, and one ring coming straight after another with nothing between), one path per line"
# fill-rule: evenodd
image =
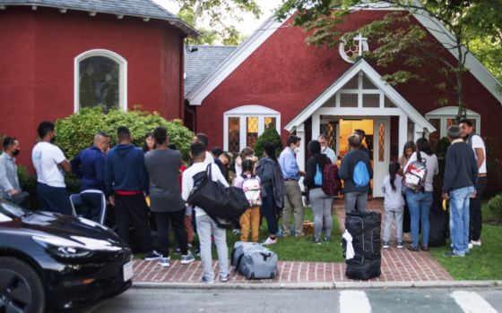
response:
M408 247L408 250L419 250L420 223L422 229L421 249L427 251L429 231L428 214L430 213L430 207L432 207L432 182L434 175L439 173L439 167L437 165L437 157L432 153L428 140L420 138L417 140L416 145L417 151L411 155L408 163L402 169L402 173L404 173L404 184L408 187L406 189L406 203L410 208L411 215L411 246ZM416 169L420 169L423 165L425 165L426 173L423 173L424 170L415 171L415 173L407 173L408 167L413 166ZM417 182L416 185L410 183L413 181L412 176L416 178L421 175L424 175L425 179L420 179L419 181L415 180Z

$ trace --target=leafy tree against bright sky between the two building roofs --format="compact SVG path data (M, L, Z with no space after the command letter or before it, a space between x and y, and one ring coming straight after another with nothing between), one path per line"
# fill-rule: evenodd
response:
M203 33L192 39L195 45L211 45L221 39L224 45L236 46L244 36L227 21L242 21L240 13L252 13L259 18L262 13L255 0L174 0L180 10L178 16ZM201 21L209 23L210 30L200 27Z

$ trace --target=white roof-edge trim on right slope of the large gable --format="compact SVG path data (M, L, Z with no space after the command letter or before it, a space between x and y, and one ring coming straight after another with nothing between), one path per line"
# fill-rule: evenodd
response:
M458 59L458 55L456 55L454 49L448 48L456 46L456 43L453 40L454 36L446 29L445 25L423 11L410 11L417 21L419 21L420 24L422 24L422 26L428 30L428 32L434 36L437 41L439 41L439 43L441 43L441 45L454 55L455 59ZM463 52L465 52L465 47L463 47ZM498 92L498 86L502 86L502 83L500 83L500 81L498 81L495 76L493 76L474 55L472 55L471 52L466 55L465 67L477 80L480 81L481 85L489 90L489 93L491 93L493 97L498 99L498 102L502 105L502 94Z

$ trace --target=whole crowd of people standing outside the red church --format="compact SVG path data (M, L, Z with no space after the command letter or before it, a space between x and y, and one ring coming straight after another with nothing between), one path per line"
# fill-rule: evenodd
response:
M134 146L131 132L125 126L117 129L117 145L113 148L110 148L108 134L96 133L91 147L83 149L71 161L54 144L54 123L40 123L38 134L39 142L31 156L37 173L41 209L65 215L73 213L64 175L73 172L81 180L82 216L102 222L100 214L103 206L111 204L115 207L119 237L131 243L130 226L133 225L134 242L141 247L144 259L159 260L160 266L170 265L169 253L173 247L169 246L169 229L172 228L176 249L181 253L181 264L195 260L192 248L200 253L203 283L215 280L212 243L220 261L219 279L221 282L229 280L226 231L202 207L186 204L194 188L195 176L208 168L213 181L244 190L249 200L249 208L235 221L235 233L240 233L241 241L260 240L258 230L263 218L268 227L264 245L276 243L279 237L304 237L302 194L307 194L314 216L314 243L331 241L333 195L326 194L322 188L322 172L326 164L334 165L338 158L333 149L327 147L325 134L308 143L306 172L299 168L297 154L302 142L295 135L290 135L279 157L276 153L278 147L267 142L260 159L255 157L253 148L244 148L232 160L232 156L221 148L210 150L207 136L197 133L190 146L190 163L186 167L176 145L169 143L169 134L163 127L157 127L146 135L143 148ZM486 188L486 151L483 140L473 133L469 120L462 121L459 126L450 126L447 135L452 145L446 153L442 193L444 199L449 199L451 207L453 250L448 255L462 257L472 246L480 245L480 198ZM364 131L356 130L351 134L348 139L350 150L342 157L338 171L344 183L346 213L367 210L373 170L364 140ZM27 207L30 195L21 189L15 164L20 150L18 140L12 137L4 139L4 153L0 156L0 195ZM404 187L402 181L410 165L416 161L425 164L427 175L420 190L411 190ZM231 164L234 166L230 167ZM404 247L402 224L404 208L408 207L411 216L411 245L408 249L418 251L421 247L428 250L428 214L437 173L437 157L425 138L416 143L407 142L402 157L389 165L389 174L382 187L385 194L383 248L390 247L393 221L397 248ZM304 188L300 188L300 181ZM150 215L154 216L154 225ZM422 236L419 244L420 225ZM154 248L152 226L158 233L157 249ZM192 246L194 233L198 237L198 249Z

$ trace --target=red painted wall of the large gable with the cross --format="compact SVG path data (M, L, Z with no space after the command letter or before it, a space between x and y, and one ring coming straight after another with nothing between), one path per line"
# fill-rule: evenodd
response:
M340 30L357 30L370 21L381 19L386 13L389 11L352 13ZM419 24L418 21L413 22ZM338 47L329 50L309 47L305 43L306 36L302 30L294 27L276 30L203 100L202 106L197 107L197 131L209 135L211 146L223 146L224 112L237 106L266 106L281 112L281 127L284 127L351 67L340 57ZM430 40L436 40L429 37ZM445 50L445 54L449 53ZM448 57L454 58L453 55ZM385 74L398 68L399 65L388 69L376 67L376 71ZM409 82L396 89L421 114L426 114L437 109L437 99L444 97L441 91L434 88L443 79L430 67L421 69L420 75L427 78L427 82ZM467 105L481 114L482 135L501 133L502 107L497 99L470 73L464 75L464 89ZM452 101L451 106L454 105ZM287 135L287 131L281 131L284 139ZM489 137L487 144L492 142L494 147L500 147L500 143L495 144L495 139L490 142Z

